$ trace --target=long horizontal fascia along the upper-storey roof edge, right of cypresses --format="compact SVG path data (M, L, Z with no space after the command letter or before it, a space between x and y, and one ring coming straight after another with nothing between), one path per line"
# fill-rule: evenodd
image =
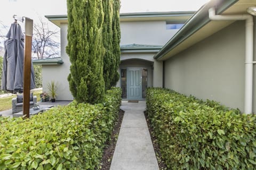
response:
M196 11L175 11L175 12L137 12L121 13L120 18L148 18L148 17L168 17L168 16L191 16Z

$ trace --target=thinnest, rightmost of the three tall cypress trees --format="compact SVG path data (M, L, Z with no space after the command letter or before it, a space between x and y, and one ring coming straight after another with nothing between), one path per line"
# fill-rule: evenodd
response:
M119 73L118 68L120 64L120 40L121 40L121 29L120 29L120 22L119 22L119 12L120 12L120 0L113 0L113 22L112 22L112 29L113 29L113 54L114 54L114 66L113 66L113 78L110 80L110 86L115 86L116 82L119 80Z

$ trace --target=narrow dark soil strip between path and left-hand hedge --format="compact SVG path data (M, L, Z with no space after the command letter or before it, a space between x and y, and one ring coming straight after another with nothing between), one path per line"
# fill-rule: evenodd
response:
M117 120L114 130L111 134L111 138L109 141L107 141L106 147L104 148L104 151L103 151L103 157L102 157L102 160L100 163L100 165L101 165L100 170L109 170L110 169L110 165L111 165L111 161L112 161L112 158L114 155L116 142L117 142L119 131L121 129L123 117L124 117L124 111L122 111L120 109L118 120Z

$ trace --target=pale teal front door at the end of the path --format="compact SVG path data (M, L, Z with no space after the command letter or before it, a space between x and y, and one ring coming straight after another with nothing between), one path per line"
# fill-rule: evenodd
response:
M127 99L142 99L141 69L127 69Z

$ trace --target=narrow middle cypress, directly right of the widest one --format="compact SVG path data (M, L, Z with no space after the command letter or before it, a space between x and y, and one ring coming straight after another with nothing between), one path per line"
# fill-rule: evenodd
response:
M111 88L110 81L115 76L115 56L113 54L113 29L112 29L112 19L113 19L113 0L103 1L103 12L104 12L104 22L102 29L103 45L106 49L105 56L103 58L103 78L105 81L105 89Z

